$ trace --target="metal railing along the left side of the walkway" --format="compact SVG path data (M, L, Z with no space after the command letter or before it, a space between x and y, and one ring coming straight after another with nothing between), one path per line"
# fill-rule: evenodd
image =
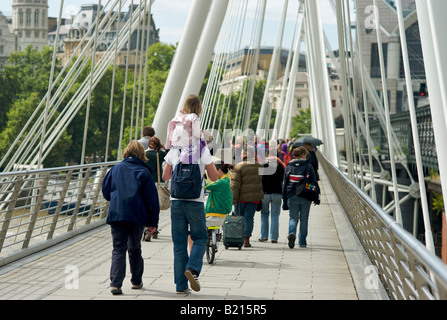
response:
M105 224L116 163L0 173L0 266Z

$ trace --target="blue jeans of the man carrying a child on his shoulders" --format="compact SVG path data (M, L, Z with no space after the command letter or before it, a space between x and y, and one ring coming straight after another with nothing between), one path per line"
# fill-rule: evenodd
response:
M171 232L174 243L174 282L177 291L188 289L187 268L200 274L208 241L205 206L202 202L173 200L171 203ZM188 257L188 234L193 245Z

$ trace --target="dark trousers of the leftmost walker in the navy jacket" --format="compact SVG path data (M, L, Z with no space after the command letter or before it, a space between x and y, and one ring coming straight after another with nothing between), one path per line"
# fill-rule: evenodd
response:
M129 253L129 264L133 285L142 282L144 261L141 256L141 238L144 226L135 222L117 221L110 224L112 231L113 251L110 268L110 286L121 288L126 276L126 252Z

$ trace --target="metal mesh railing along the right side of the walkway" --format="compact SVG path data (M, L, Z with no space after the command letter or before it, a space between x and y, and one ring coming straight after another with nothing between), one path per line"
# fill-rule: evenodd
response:
M447 266L323 155L329 180L391 299L447 299Z

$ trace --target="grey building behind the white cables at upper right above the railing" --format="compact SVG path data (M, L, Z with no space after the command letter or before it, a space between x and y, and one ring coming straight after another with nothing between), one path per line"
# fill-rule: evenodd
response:
M371 5L369 0L359 0L360 13L368 15L367 7ZM428 103L426 96L419 95L426 84L425 67L422 54L421 36L417 19L415 0L402 0L405 18L405 29L408 45L408 54L411 65L411 77L413 92L415 92L416 106ZM408 110L408 95L405 83L405 71L403 67L402 50L399 36L399 26L395 3L392 0L377 1L380 13L381 32L383 41L384 63L387 77L388 99L390 112L397 113ZM376 30L368 25L359 23L357 32L361 34L362 57L369 76L371 77L377 92L382 91L379 53ZM357 83L361 83L356 75ZM362 96L362 92L357 92Z

